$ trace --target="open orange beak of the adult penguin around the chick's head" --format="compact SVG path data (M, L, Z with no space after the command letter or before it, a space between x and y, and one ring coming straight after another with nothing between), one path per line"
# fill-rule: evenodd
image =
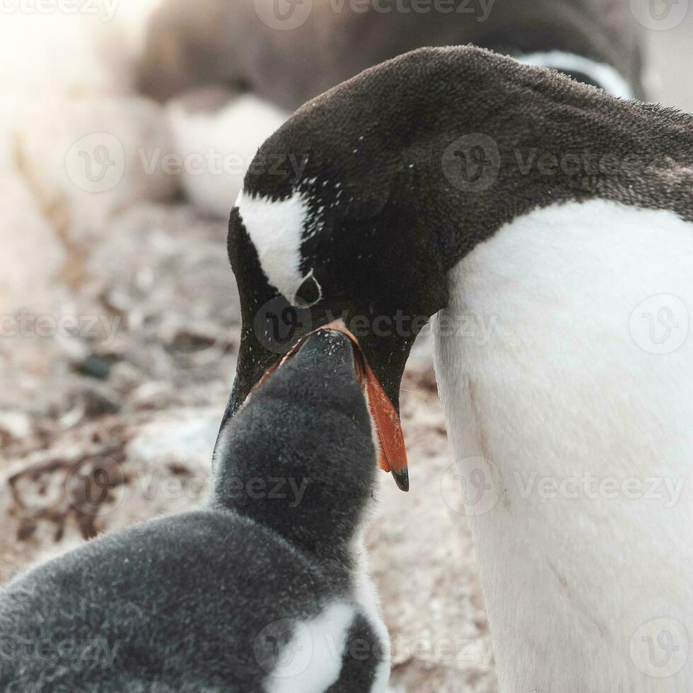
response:
M260 382L255 385L257 388L264 380L267 380L269 375L274 373L286 359L291 358L296 353L303 341L310 337L310 334L319 330L334 330L334 332L342 332L346 334L354 344L354 361L356 362L356 376L359 379L361 389L366 394L368 402L368 410L371 412L375 431L378 434L378 445L380 446L380 457L378 465L385 472L392 472L392 477L395 478L395 483L402 491L409 491L409 470L407 467L407 448L404 446L404 435L402 434L402 423L400 417L395 410L394 405L390 401L390 397L385 394L383 385L380 385L380 380L375 377L375 373L368 365L366 357L363 356L359 340L356 339L342 320L335 320L329 325L318 327L299 340L291 347L290 351L283 356L279 361L264 372ZM255 390L253 388L253 390Z

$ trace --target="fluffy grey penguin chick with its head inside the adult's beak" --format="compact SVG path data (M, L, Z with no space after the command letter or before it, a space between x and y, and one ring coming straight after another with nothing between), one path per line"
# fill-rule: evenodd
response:
M311 335L223 431L207 508L0 590L0 690L385 691L390 643L361 545L376 467L360 363L344 335Z

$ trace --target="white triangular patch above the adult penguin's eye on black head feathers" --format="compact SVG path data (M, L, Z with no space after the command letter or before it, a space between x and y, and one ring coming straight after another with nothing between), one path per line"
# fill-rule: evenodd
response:
M296 291L310 276L301 274L301 236L308 219L308 201L298 192L272 201L241 192L236 200L245 230L260 258L262 272L296 305Z

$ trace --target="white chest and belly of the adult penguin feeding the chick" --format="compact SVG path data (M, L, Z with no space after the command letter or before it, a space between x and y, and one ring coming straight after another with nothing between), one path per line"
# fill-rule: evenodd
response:
M436 371L501 692L693 689L693 225L553 206L450 281Z

